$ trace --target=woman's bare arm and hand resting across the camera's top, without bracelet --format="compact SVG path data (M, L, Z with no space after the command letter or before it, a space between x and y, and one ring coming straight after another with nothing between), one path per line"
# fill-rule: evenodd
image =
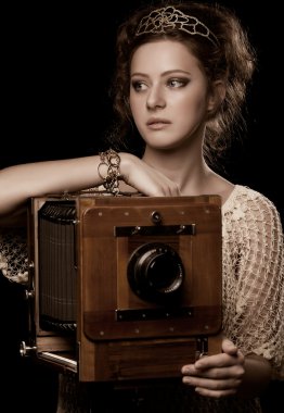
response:
M146 196L178 196L178 186L129 153L119 153L120 179ZM14 165L0 171L0 215L31 197L73 192L103 183L100 155ZM106 171L101 168L101 174ZM105 176L103 176L105 177Z

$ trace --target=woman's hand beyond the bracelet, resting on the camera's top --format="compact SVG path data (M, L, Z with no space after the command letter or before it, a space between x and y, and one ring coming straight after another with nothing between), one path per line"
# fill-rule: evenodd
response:
M178 197L179 187L165 175L130 153L119 153L122 180L149 197Z

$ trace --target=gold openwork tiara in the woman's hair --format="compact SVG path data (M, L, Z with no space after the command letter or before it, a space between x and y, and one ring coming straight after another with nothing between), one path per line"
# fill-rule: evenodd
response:
M215 46L218 46L217 37L198 18L184 14L180 10L169 5L153 10L144 16L137 29L135 36L146 33L166 33L166 29L178 28L190 35L207 37Z

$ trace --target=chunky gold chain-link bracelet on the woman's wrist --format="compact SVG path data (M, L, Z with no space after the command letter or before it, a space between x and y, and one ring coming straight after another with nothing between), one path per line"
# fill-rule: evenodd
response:
M113 149L108 149L106 152L100 152L101 162L98 165L98 173L103 179L103 187L114 196L119 193L119 179L120 176L120 157ZM106 174L103 175L102 170L106 170Z

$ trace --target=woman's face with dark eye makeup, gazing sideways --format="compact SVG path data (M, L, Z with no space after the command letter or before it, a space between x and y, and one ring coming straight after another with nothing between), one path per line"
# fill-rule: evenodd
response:
M137 49L130 66L130 108L146 145L172 149L193 136L202 139L211 104L205 74L183 43L159 40Z

